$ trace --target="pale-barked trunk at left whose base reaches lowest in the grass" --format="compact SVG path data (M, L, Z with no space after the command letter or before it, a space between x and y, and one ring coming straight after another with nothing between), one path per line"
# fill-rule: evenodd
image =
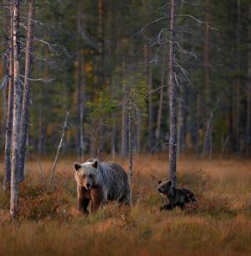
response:
M13 2L13 154L11 175L10 215L14 217L18 212L19 196L19 159L20 159L20 117L21 117L21 88L20 88L20 40L19 40L19 8L20 1Z

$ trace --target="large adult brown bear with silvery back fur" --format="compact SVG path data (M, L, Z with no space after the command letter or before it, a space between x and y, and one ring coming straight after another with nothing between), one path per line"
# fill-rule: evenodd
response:
M84 164L74 163L79 211L96 212L107 201L131 205L131 186L125 170L113 162L89 159Z

